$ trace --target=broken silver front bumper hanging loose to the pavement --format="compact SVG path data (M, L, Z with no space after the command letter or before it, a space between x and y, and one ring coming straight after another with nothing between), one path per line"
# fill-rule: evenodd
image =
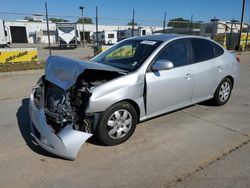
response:
M92 134L76 131L72 124L62 128L57 134L46 122L44 109L37 107L32 91L29 103L31 135L38 145L50 153L74 160L83 143Z

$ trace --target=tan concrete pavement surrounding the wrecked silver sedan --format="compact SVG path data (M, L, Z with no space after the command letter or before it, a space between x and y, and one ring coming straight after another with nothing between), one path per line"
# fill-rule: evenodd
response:
M143 122L118 146L90 139L75 161L32 143L29 93L43 71L0 74L0 187L250 187L250 54L240 58L226 105Z

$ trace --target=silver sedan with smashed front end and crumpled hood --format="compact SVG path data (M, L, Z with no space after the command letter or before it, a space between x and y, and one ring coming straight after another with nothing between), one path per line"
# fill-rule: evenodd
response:
M130 38L89 62L51 56L30 98L32 135L75 159L93 134L116 145L149 118L206 100L224 105L238 77L234 55L195 36Z

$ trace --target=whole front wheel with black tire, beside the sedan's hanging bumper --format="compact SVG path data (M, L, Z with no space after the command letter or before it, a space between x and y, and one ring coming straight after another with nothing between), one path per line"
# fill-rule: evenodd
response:
M105 145L118 145L128 140L135 131L138 115L128 102L116 103L101 115L97 138Z

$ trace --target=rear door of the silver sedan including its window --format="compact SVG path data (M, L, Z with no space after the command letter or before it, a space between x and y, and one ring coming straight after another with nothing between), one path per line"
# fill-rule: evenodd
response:
M194 90L192 103L204 101L213 97L219 84L218 74L222 71L219 58L216 58L215 44L207 39L193 38L192 64L194 72Z

